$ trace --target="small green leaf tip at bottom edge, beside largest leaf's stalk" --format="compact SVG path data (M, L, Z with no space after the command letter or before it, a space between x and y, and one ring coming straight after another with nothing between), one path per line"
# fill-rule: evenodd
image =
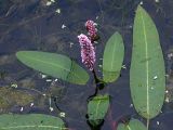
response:
M119 123L117 130L147 130L137 119L131 119L128 123Z

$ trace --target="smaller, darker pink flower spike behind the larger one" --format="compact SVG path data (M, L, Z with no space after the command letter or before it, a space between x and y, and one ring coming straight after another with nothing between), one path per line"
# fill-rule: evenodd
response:
M93 21L86 21L85 23L85 27L88 29L88 35L89 35L89 38L92 40L92 42L94 41L94 39L97 37L96 32L97 32L97 29L96 29L96 23L94 23Z

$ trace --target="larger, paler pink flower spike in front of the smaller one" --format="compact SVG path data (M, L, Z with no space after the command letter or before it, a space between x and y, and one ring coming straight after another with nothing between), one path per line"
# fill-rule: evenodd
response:
M95 63L95 49L91 43L91 40L83 34L78 36L79 43L81 47L82 63L90 69L93 70Z

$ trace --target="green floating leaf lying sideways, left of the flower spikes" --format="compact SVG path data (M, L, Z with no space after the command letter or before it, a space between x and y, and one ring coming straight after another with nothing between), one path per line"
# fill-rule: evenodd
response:
M22 63L36 70L71 83L85 84L89 80L89 75L83 68L62 54L19 51L16 56Z

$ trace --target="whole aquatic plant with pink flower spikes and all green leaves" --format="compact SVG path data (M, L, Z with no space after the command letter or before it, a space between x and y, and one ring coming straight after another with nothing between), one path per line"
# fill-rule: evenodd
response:
M106 87L105 84L116 81L120 76L124 47L119 32L115 32L108 39L103 55L103 77L97 77L94 70L96 62L94 41L98 40L96 39L98 36L96 25L93 21L88 21L85 27L89 31L89 37L81 34L78 38L81 47L81 62L91 70L90 73L93 74L95 79L95 92L88 98L86 114L86 121L91 129L94 130L101 129L110 106L110 95L108 93L98 94L98 90L101 91ZM66 55L39 51L19 51L16 56L25 65L70 83L86 84L90 78L86 70ZM114 129L149 129L149 120L159 115L163 105L165 90L164 69L163 55L155 23L148 13L138 5L133 28L130 89L134 107L137 114L146 119L147 125L145 126L134 118L123 118L120 119L121 121L116 120L117 128ZM13 122L14 119L17 125L9 125L9 121ZM62 119L39 114L25 116L1 115L0 120L0 129L21 126L40 130L42 127L48 129L56 128L57 130L68 129Z

